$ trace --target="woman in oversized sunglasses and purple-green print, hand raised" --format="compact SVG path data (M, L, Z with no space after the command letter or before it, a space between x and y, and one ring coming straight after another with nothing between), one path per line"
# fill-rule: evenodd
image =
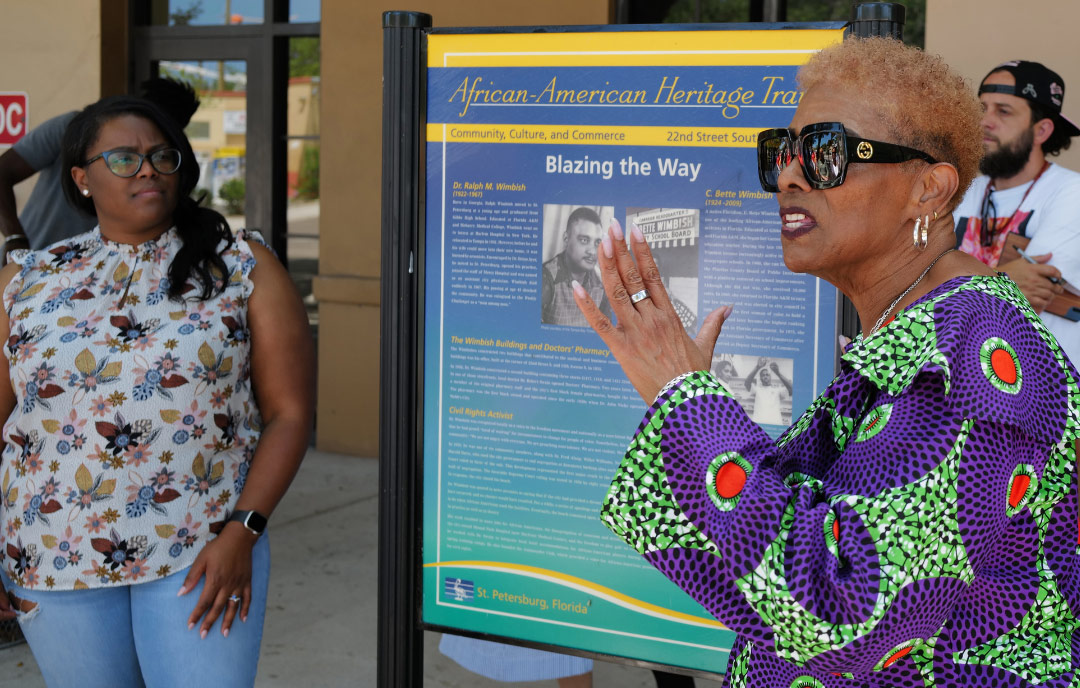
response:
M618 325L578 305L651 407L603 518L738 633L731 686L1076 685L1080 389L1016 285L953 251L978 103L886 39L798 79L760 181L785 264L840 288L862 334L773 442L707 372L731 308L690 339L640 232L627 249L612 227Z

